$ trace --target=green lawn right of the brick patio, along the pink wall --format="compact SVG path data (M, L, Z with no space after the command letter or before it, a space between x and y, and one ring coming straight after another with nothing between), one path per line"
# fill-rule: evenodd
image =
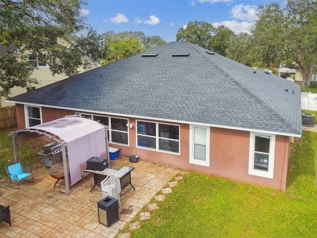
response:
M315 119L316 119L316 113ZM315 238L317 132L292 148L286 192L190 173L131 238ZM162 194L162 193L161 193ZM144 207L142 212L148 211ZM138 216L132 220L139 220ZM126 226L122 233L127 232Z

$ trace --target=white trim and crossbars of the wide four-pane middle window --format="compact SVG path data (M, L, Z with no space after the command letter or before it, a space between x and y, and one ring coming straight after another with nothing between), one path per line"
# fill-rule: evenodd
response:
M148 137L152 137L152 138L156 138L155 140L155 143L156 143L156 148L150 148L150 147L143 147L143 146L138 146L138 135L141 135L141 134L138 134L138 129L136 128L136 146L137 148L140 148L140 149L145 149L145 150L154 150L154 151L159 151L159 152L162 152L162 153L167 153L167 154L173 154L173 155L180 155L180 125L179 124L172 124L172 123L162 123L162 122L156 122L156 121L150 121L150 120L136 120L136 124L135 126L137 127L138 125L138 122L139 121L145 121L145 122L150 122L150 123L155 123L155 129L156 129L156 135L142 135L142 136L148 136ZM159 124L165 124L165 125L176 125L178 126L179 128L179 139L176 140L176 139L170 139L170 138L164 138L164 137L159 137ZM167 151L167 150L160 150L159 149L159 139L166 139L166 140L173 140L173 141L178 141L178 152L173 152L173 151Z

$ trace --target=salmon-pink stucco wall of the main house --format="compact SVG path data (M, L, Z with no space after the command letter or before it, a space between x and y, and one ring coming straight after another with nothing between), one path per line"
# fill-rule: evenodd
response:
M16 105L18 128L25 128L23 105ZM43 122L74 115L74 111L42 108ZM250 132L211 127L210 129L210 166L199 166L189 163L189 125L180 124L180 155L159 152L136 147L136 119L129 118L133 127L129 128L129 146L111 144L121 149L120 156L138 154L139 160L172 166L182 170L199 171L208 175L244 181L277 189L286 189L290 137L276 135L275 163L273 179L248 174Z

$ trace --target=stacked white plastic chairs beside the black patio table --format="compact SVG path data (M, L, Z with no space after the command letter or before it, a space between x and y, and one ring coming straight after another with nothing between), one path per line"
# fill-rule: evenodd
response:
M106 196L116 198L118 199L118 206L121 207L121 183L119 177L114 173L110 173L106 179L101 181L100 185L102 198Z

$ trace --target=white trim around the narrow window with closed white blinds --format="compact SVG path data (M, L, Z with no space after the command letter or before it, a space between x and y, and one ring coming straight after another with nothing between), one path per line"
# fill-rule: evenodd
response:
M206 128L206 161L194 158L194 127ZM202 125L189 125L189 163L210 167L210 127Z

